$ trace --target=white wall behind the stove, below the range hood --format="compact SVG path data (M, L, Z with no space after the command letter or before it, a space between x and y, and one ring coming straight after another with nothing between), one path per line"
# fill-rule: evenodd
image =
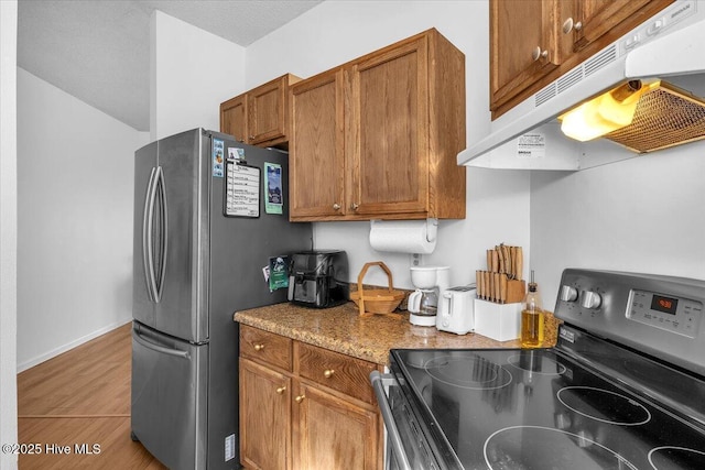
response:
M532 267L546 307L564 267L705 278L704 153L692 143L578 173L534 172Z

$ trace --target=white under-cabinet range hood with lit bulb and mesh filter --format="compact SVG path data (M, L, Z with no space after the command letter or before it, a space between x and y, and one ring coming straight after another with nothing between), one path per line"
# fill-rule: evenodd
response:
M572 119L568 111L595 113L600 100L628 105L625 123L585 141L566 136L561 127ZM577 171L702 139L705 1L676 0L492 121L490 133L457 160L489 168Z

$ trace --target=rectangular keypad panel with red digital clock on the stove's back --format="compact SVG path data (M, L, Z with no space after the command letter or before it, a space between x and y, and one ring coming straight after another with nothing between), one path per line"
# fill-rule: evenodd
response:
M703 303L654 292L632 289L627 317L634 321L695 338Z

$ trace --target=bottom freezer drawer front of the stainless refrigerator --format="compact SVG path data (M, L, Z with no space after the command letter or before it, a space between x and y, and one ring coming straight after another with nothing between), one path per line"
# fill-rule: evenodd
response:
M132 434L172 470L205 469L208 345L132 329Z

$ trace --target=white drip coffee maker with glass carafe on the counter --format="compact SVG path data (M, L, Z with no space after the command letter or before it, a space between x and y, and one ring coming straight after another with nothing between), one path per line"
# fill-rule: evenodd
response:
M411 282L416 289L409 295L409 321L425 327L436 326L438 308L444 308L438 300L451 284L451 267L413 266Z

